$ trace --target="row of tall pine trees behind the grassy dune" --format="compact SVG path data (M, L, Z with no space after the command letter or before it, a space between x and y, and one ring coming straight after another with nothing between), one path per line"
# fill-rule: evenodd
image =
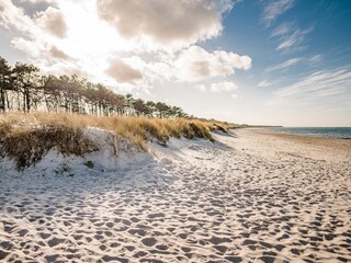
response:
M73 76L42 76L34 65L13 67L0 57L0 112L67 112L91 115L186 117L178 106L122 95Z

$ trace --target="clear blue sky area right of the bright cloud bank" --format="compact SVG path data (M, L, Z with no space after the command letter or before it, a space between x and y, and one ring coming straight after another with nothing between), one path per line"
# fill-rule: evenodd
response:
M350 126L351 1L291 1L290 9L267 20L264 10L274 2L237 3L224 15L223 34L203 44L252 58L250 70L233 77L241 99L233 102L233 112L245 112L251 123ZM278 35L279 30L286 34ZM346 72L335 76L340 70ZM320 80L313 81L318 72ZM282 98L282 89L296 83L296 92ZM314 84L318 90L308 91Z

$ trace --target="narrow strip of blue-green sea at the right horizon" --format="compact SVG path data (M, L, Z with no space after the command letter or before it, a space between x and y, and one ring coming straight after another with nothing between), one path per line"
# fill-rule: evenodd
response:
M351 127L273 127L270 129L303 136L351 139Z

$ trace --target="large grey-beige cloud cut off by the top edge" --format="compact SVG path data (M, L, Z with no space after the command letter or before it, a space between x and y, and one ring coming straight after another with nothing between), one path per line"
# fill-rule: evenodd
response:
M127 38L144 38L167 47L183 47L218 36L222 12L233 7L223 0L98 0L101 19Z

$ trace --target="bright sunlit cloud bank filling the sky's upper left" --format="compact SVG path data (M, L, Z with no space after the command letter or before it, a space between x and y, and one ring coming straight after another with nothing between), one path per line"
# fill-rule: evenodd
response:
M222 33L223 14L235 2L0 0L0 26L15 33L12 46L46 73L80 72L138 88L220 81L252 62L247 55L201 47Z

